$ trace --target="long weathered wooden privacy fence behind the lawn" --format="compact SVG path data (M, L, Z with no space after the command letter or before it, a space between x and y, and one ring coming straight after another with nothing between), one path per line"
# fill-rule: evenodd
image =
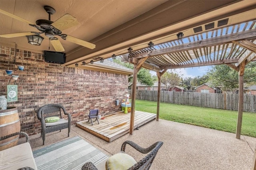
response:
M136 90L136 99L157 101L157 91ZM160 92L160 102L238 110L238 94ZM256 95L244 94L244 111L256 113Z

